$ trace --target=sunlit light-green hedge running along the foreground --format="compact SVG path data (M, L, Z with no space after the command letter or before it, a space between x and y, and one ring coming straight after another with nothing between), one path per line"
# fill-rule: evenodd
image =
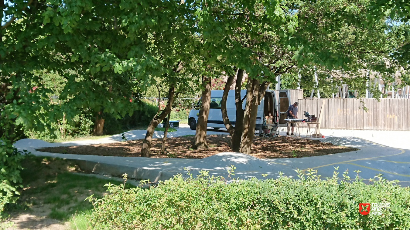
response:
M312 172L312 171L310 171ZM379 175L370 185L356 180L234 180L175 176L148 189L108 185L109 194L93 200L93 229L300 230L409 229L410 188ZM91 200L91 199L90 199ZM382 216L362 215L359 203L390 202Z

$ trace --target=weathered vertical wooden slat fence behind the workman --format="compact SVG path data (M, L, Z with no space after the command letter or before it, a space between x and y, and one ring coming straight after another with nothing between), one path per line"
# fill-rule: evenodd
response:
M323 100L321 128L410 131L410 99L299 99L298 117L305 118L303 111L319 116Z

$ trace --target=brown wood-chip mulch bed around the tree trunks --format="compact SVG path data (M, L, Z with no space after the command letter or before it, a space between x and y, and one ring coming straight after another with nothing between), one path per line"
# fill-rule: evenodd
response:
M161 153L162 138L153 139L153 158L205 158L217 153L231 152L229 135L207 136L208 149L191 149L194 136L168 138L165 153ZM37 149L49 153L69 153L80 155L139 157L143 140L93 144L85 146L52 147ZM344 153L358 149L322 143L319 140L280 136L277 138L254 137L252 156L257 158L296 158Z

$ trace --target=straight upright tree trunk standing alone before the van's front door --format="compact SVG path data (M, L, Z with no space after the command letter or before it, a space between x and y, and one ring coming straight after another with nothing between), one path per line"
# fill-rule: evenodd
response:
M202 77L202 105L199 110L198 123L196 124L195 144L193 149L205 149L206 143L206 127L208 124L209 108L211 104L211 77Z

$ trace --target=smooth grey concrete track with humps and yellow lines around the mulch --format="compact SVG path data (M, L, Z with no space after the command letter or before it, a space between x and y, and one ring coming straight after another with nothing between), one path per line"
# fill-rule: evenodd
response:
M322 131L322 134L332 131ZM223 176L228 175L227 169L230 165L234 165L235 178L248 179L256 177L263 179L262 174L268 174L267 178L277 178L278 172L283 172L284 175L297 178L295 169L306 170L307 168L318 169L318 174L322 178L332 176L334 167L339 167L339 177L348 169L349 176L355 178L356 174L353 170L362 171L359 176L361 178L374 178L376 174L383 174L383 177L388 180L400 180L400 185L410 186L410 141L409 132L390 132L389 138L381 138L383 133L378 133L376 138L371 137L369 133L360 134L362 138L346 136L349 131L333 131L333 135L320 138L322 142L330 142L335 145L355 147L360 150L347 153L336 153L324 156L313 156L305 158L281 158L281 159L259 159L253 156L248 156L242 153L219 153L203 159L177 159L177 158L140 158L140 157L113 157L113 156L89 156L89 155L74 155L64 153L45 153L35 151L41 147L55 146L73 146L87 144L102 144L109 142L121 141L121 134L113 135L108 138L98 140L81 140L62 143L48 143L42 140L23 139L17 141L14 145L19 149L26 149L37 156L52 156L59 158L67 158L78 160L82 168L93 171L98 174L109 174L121 176L123 173L128 173L128 176L137 180L150 179L151 181L166 180L175 174L187 174L186 169L196 176L199 171L210 171L210 175ZM377 132L377 131L376 131ZM145 138L145 130L128 131L125 134L128 140L137 140ZM351 133L351 132L350 132ZM398 134L399 133L399 134ZM213 131L208 129L207 134L225 134L226 131ZM285 135L284 131L280 132ZM181 127L176 132L168 133L168 137L178 137L184 135L195 135L195 131L188 127ZM343 136L345 135L345 136ZM394 138L396 135L396 138ZM154 138L162 138L162 131L155 131ZM367 138L364 140L363 138ZM369 141L375 139L383 144L389 144L390 147ZM315 138L316 139L316 138ZM395 139L395 141L393 141ZM407 140L407 142L406 142ZM396 142L396 144L395 144ZM399 146L401 148L395 147ZM406 149L402 149L405 147Z

